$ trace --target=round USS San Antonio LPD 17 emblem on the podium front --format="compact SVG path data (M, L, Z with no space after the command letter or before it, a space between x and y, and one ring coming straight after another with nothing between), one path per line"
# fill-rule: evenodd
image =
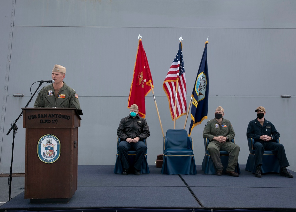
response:
M61 154L61 145L55 135L44 135L38 141L38 158L44 163L53 163Z

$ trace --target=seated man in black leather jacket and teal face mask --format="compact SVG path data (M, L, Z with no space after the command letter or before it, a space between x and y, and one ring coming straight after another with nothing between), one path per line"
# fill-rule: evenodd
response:
M138 112L138 105L131 105L130 115L121 119L117 129L117 135L122 140L118 145L118 152L120 160L123 163L123 175L128 174L130 166L128 162L128 151L136 151L134 174L140 175L142 161L147 150L147 146L143 140L150 135L149 126L146 119L141 118Z

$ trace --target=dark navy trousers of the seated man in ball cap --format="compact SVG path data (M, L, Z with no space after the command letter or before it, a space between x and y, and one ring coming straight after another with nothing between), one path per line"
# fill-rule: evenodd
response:
M281 168L290 165L286 156L284 145L281 143L275 143L272 141L256 141L254 143L254 148L256 166L262 165L262 157L265 150L272 151L277 156L279 166Z

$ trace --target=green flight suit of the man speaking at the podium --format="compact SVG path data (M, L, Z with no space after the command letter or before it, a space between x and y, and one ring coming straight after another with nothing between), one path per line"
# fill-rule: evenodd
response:
M64 83L56 97L53 84L42 88L36 98L34 107L72 107L81 109L78 95L73 88Z

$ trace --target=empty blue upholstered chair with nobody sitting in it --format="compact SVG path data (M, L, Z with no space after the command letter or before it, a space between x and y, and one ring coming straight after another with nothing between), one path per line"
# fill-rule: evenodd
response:
M161 174L196 174L192 137L185 129L168 129L163 137Z

